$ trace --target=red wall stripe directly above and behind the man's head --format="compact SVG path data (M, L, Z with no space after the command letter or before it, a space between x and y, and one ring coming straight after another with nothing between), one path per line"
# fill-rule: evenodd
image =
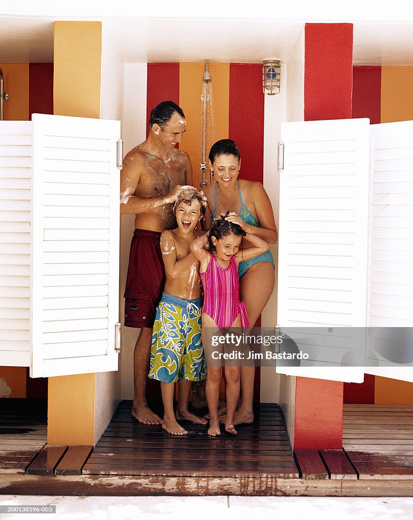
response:
M179 105L179 63L148 63L146 126L153 107L162 101ZM146 135L149 133L149 127Z

